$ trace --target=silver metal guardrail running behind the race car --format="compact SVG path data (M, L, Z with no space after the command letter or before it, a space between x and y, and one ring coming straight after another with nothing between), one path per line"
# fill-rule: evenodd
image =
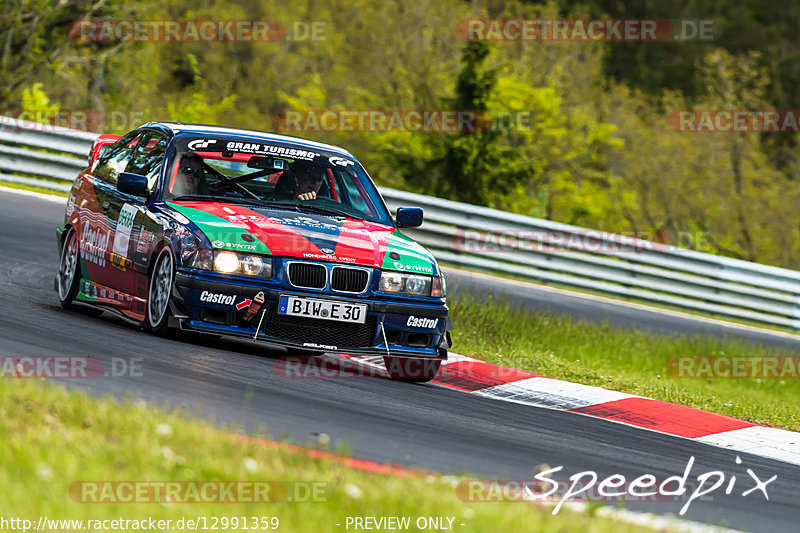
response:
M96 136L0 117L0 180L68 190L86 166ZM380 191L392 210L425 210L422 227L407 233L445 264L800 330L798 271L394 189Z

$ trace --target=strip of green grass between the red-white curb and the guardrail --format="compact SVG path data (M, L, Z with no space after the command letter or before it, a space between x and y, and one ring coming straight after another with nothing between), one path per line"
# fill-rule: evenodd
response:
M453 349L458 353L551 378L800 431L800 379L688 379L667 372L671 357L796 352L740 340L654 334L525 312L491 297L460 294L448 303L455 324Z

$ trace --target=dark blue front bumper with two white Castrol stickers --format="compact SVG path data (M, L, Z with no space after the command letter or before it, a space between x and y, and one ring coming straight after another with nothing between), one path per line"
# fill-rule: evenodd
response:
M289 349L341 351L354 355L447 358L452 325L444 303L392 301L371 294L346 297L288 289L266 280L228 280L213 274L179 271L173 315L183 330L265 341ZM259 292L264 304L250 321L248 300ZM366 304L364 324L279 314L281 296ZM252 303L250 304L252 305ZM383 325L383 328L381 328ZM384 341L385 338L385 341Z

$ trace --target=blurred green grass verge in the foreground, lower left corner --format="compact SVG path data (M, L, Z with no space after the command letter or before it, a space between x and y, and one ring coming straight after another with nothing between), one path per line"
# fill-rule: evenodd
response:
M552 516L529 503L464 502L454 490L457 477L367 473L287 446L242 440L177 411L97 399L40 381L0 379L0 435L0 516L6 519L265 516L280 520L279 531L306 532L346 531L347 516L447 516L464 532L651 531L598 517L592 506L587 513L562 509ZM70 497L76 482L123 480L313 482L324 487L324 497L266 504L98 504Z

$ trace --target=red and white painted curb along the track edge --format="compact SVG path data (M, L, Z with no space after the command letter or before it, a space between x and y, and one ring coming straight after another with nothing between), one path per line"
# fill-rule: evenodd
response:
M380 357L354 358L380 366ZM432 384L486 398L602 418L800 465L800 433L694 407L548 378L450 353Z

